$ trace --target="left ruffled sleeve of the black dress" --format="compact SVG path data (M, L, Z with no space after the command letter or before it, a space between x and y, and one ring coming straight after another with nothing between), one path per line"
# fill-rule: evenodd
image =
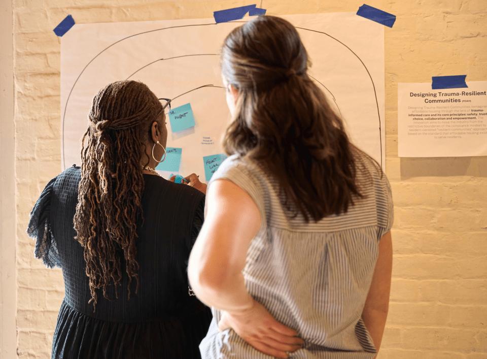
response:
M51 197L54 188L54 177L46 185L39 199L30 212L30 221L27 227L27 235L36 240L36 249L34 255L42 259L42 263L48 268L61 268L59 252L56 241L51 232Z

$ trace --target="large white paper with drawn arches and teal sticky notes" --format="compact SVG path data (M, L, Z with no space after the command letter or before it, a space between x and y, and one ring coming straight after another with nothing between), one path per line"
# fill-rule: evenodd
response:
M283 18L298 28L312 61L309 75L344 118L352 140L384 167L384 26L355 13ZM80 138L93 96L111 82L133 79L158 97L179 96L171 106L179 108L175 120L185 122L167 121L172 167L160 173L211 177L224 158L221 138L230 120L220 47L246 20L76 24L61 39L62 168L81 163Z

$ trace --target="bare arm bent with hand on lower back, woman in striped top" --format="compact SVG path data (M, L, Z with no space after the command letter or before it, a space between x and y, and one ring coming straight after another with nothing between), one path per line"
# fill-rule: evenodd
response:
M247 250L261 227L259 209L233 182L219 179L206 194L207 213L189 258L188 276L196 296L221 309L219 329L233 329L257 350L286 358L303 341L275 320L247 291L242 270Z

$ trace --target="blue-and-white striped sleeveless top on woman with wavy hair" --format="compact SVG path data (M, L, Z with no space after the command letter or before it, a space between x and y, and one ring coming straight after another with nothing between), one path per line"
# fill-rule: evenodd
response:
M371 161L358 172L365 198L340 215L306 223L286 216L277 182L254 161L228 157L213 175L249 193L262 226L252 240L243 275L247 290L276 320L296 330L304 347L290 358L368 359L376 354L361 319L380 238L393 222L391 187ZM218 331L220 311L200 344L204 359L269 359L233 330Z

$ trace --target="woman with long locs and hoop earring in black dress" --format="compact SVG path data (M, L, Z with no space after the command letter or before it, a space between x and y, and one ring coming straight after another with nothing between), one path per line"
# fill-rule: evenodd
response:
M212 315L186 268L206 185L154 170L165 159L170 109L160 100L137 81L101 89L81 168L53 178L32 209L36 257L64 277L53 359L200 357Z

